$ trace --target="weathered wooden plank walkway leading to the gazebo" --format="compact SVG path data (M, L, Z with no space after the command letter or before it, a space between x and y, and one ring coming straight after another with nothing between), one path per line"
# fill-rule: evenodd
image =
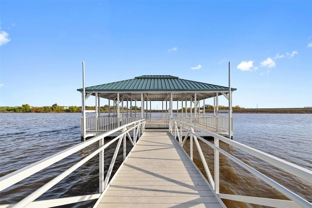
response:
M225 207L168 130L146 130L98 208Z

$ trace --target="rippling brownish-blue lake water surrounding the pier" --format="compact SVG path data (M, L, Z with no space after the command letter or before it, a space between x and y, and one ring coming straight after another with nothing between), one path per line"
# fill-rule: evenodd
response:
M0 113L0 176L80 143L80 116L81 113ZM233 116L234 140L312 170L312 114L234 114ZM59 172L66 170L70 164L81 160L97 146L98 144L94 144L92 147L78 151L48 169L5 189L1 192L0 204L21 200L42 186L42 183L46 183ZM204 146L202 148L213 170L212 150ZM307 184L278 169L271 169L270 165L228 145L221 144L221 148L231 151L255 169L268 173L282 185L312 201L312 184ZM127 150L129 151L130 148ZM113 151L114 149L105 152L106 170ZM97 160L98 158L95 157L88 164L80 167L39 199L96 193L98 191ZM233 162L222 156L220 160L222 162L221 192L284 199L277 191L264 185ZM195 163L200 167L199 161L195 160ZM91 201L63 207L92 207L94 203ZM232 202L226 202L226 205L228 207L251 206Z

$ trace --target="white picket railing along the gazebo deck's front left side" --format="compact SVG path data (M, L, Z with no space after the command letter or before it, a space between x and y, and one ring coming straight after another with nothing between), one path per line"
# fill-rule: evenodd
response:
M86 117L86 132L108 132L124 124L138 121L139 117ZM83 118L81 118L81 132L83 131Z

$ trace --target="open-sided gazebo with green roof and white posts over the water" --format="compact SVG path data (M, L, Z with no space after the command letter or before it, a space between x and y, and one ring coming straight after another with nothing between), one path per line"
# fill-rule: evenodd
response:
M215 129L215 132L226 132L225 129L227 128L228 136L231 137L231 135L233 135L231 97L235 90L236 89L234 88L229 90L229 87L196 82L169 75L137 76L133 79L85 87L84 89L81 88L78 89L82 94L81 132L83 138L90 136L91 134L96 135L97 132L103 132L100 128L100 125L103 125L100 124L103 123L99 121L100 117L146 119L147 127L164 128L166 127L166 122L168 123L168 121L173 118L192 118L190 121L195 125L199 125L200 122L202 123L201 120L203 117L206 117L206 121L207 117L219 118L220 116L218 113L222 112L228 113L228 116L226 116L228 117L227 127L220 127L220 123L224 123L224 119L221 122L215 120L213 121L214 124L212 124L212 122L210 122L210 124L206 122L205 125L206 127L214 125L215 127L211 128L211 130L214 131L213 129ZM91 95L96 97L96 110L94 111L85 110L85 100ZM228 110L219 111L218 97L220 95L225 96L229 100ZM214 113L213 115L206 115L205 108L200 111L200 103L205 106L205 100L212 97L214 98ZM108 100L109 109L111 108L111 102L113 101L114 111L109 111L106 116L100 116L100 98ZM157 119L153 117L151 113L152 102L155 101L158 101L158 103L161 102L161 108L159 107L159 113L161 112L161 116L158 115ZM140 104L140 112L137 112L137 109L133 112L133 104L135 106ZM187 112L188 108L190 108L189 112ZM86 117L86 113L95 113L95 116L92 118ZM159 119L159 117L162 119ZM226 117L223 116L223 118ZM87 121L88 118L90 118L90 122ZM92 119L94 119L94 121L91 121ZM90 123L90 125L88 125L88 123ZM93 128L91 128L91 126L93 126ZM92 133L87 134L86 132Z

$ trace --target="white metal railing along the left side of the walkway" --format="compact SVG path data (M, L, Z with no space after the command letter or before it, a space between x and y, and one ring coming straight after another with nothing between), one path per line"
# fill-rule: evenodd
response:
M92 200L92 199L98 199L100 196L100 193L103 192L105 187L109 184L110 176L112 174L112 170L115 165L115 161L116 161L121 143L123 142L123 160L125 160L126 137L128 137L132 145L135 146L137 143L137 139L139 139L142 133L145 131L145 123L146 123L145 120L138 120L138 121L125 124L112 131L99 134L98 136L95 136L87 141L81 142L78 145L75 145L64 151L60 151L59 153L56 153L34 164L26 166L25 168L22 168L20 170L17 170L15 172L2 176L0 178L0 191L13 186L14 184L20 182L21 180L35 174L36 172L39 172L40 170L47 168L48 166L68 157L69 155L79 150L82 150L94 144L95 142L99 142L99 147L97 150L93 151L88 156L80 160L78 163L76 163L69 169L65 170L64 172L59 174L57 177L55 177L48 183L44 184L41 188L37 189L36 191L28 195L26 198L22 199L17 204L0 205L0 208L7 208L7 207L23 208L28 205L31 207L48 208L48 207L56 207L56 206L61 206L61 205L77 203L77 202L83 202L83 201ZM104 138L118 131L122 131L122 132L117 137L115 137L110 142L104 145ZM129 134L130 131L133 132L132 138ZM111 160L109 169L106 173L106 177L104 179L104 150L116 141L118 141L118 144L115 149L113 158ZM78 167L80 167L81 165L89 161L92 157L94 157L97 154L99 155L99 193L90 194L90 195L82 195L82 196L74 196L74 197L66 197L66 198L58 198L58 199L40 200L40 201L34 202L34 200L36 200L40 195L42 195L44 192L46 192L47 190L55 186L57 183L59 183L59 181L64 179L67 175L72 173L74 170L76 170Z

